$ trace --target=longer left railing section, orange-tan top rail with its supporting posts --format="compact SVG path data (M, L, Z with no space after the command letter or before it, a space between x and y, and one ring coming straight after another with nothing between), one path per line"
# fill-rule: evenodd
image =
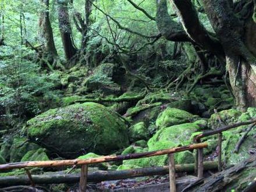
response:
M109 156L90 158L90 159L74 159L74 160L59 160L59 161L29 161L29 162L7 163L7 164L0 165L0 171L10 170L10 169L29 168L29 167L55 167L55 166L67 166L67 165L69 166L81 165L79 191L84 192L86 191L86 186L87 186L88 165L92 163L139 159L139 158L154 157L157 155L169 155L170 191L175 192L176 179L175 179L175 161L174 161L173 154L177 152L187 151L187 150L201 150L202 148L205 148L207 146L208 146L207 143L197 143L197 144L191 144L191 145L186 145L182 147L170 148L166 150L150 151L150 152L143 152L138 154L109 155ZM200 168L200 170L203 171L203 165L202 165L202 168Z

